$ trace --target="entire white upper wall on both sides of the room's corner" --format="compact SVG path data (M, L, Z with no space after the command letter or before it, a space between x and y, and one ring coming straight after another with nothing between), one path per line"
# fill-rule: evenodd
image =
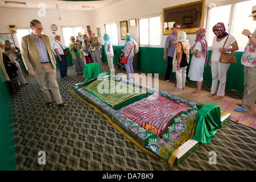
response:
M124 46L125 40L121 40L120 36L120 21L128 21L128 32L138 42L138 18L140 16L162 14L163 9L181 5L184 3L195 2L197 0L125 0L114 5L106 6L100 10L95 11L61 11L61 18L74 18L68 20L55 20L51 16L57 17L57 10L47 10L46 16L39 17L38 10L35 9L6 9L0 8L0 16L2 17L0 23L0 33L9 33L9 24L15 24L16 27L28 27L31 19L39 19L44 27L44 34L52 35L50 26L52 23L58 26L56 34L61 34L60 26L76 26L83 25L86 31L86 26L90 25L91 30L95 33L96 27L101 30L101 44L104 44L104 23L117 22L118 26L118 42L119 46ZM230 2L232 0L227 0ZM233 0L240 1L240 0ZM205 0L205 7L210 3L223 2L221 0ZM205 9L207 10L207 8ZM207 11L204 12L204 27ZM129 19L137 20L137 27L129 27ZM161 31L162 32L162 31ZM162 35L162 47L166 42L167 35ZM195 42L195 35L188 35L189 43L192 45Z

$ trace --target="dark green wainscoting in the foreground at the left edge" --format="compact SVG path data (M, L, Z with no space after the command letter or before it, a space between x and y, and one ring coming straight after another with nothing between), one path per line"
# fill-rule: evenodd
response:
M0 68L0 171L15 171L11 95Z

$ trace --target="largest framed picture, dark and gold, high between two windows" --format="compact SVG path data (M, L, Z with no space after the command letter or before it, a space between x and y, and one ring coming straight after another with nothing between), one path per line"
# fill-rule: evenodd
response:
M196 1L163 9L163 35L172 33L175 22L181 24L180 31L195 34L203 27L205 1Z

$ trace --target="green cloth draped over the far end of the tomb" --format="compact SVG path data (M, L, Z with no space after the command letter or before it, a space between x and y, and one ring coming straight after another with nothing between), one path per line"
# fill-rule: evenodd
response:
M89 81L92 78L97 78L101 74L101 69L98 63L90 63L84 65L85 80Z

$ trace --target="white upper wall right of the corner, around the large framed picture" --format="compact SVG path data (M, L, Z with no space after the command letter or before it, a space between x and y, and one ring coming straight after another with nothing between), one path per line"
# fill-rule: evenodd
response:
M198 0L196 0L198 1ZM128 21L128 32L133 36L135 40L138 41L138 18L140 16L152 15L152 14L162 14L163 9L167 7L177 6L185 3L195 2L195 0L125 0L119 3L116 3L112 6L107 6L103 9L96 10L92 12L94 19L93 27L100 27L101 34L104 34L104 23L108 22L117 22L118 33L120 30L120 21ZM210 2L217 2L216 0L205 1L205 5ZM137 19L137 27L129 27L129 19ZM161 30L162 32L162 30ZM101 37L102 37L101 36ZM195 42L195 35L188 35L189 43ZM118 35L119 46L124 46L125 40L121 40L120 33ZM162 36L162 47L166 42L167 35ZM101 42L104 42L101 38Z

